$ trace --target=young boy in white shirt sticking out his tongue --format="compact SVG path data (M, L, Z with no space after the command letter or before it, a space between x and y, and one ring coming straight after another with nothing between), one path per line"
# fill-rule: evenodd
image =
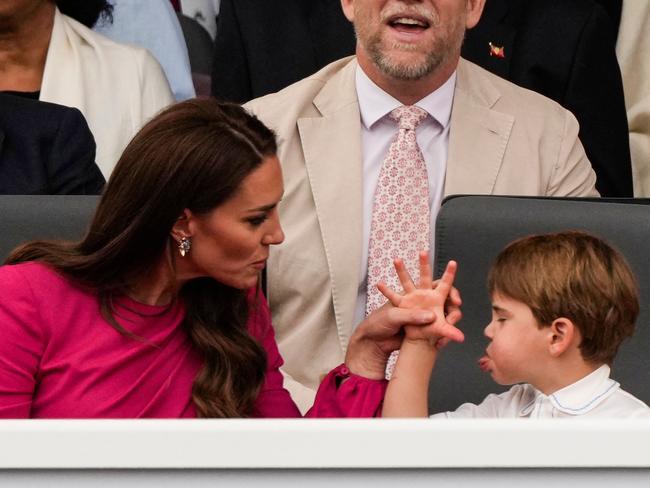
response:
M453 283L448 267L436 289L416 287L401 262L405 295L381 287L395 306L430 308L427 331L408 328L384 400L384 417L423 417L438 349L449 340L441 312ZM421 274L428 272L421 267ZM583 232L525 237L509 244L488 276L492 321L479 365L505 393L432 417L635 417L642 401L609 378L618 347L639 313L636 284L623 257Z

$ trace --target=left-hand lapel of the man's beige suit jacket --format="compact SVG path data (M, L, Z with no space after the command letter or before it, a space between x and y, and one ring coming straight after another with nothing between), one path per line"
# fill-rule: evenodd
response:
M355 67L356 62L345 66L314 99L322 117L298 120L343 350L352 332L362 245L361 122Z

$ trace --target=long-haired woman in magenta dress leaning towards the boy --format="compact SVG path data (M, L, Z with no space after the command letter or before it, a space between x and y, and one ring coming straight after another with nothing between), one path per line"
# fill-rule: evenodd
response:
M126 148L86 237L0 268L0 417L298 416L259 276L284 236L273 133L241 107L175 105ZM380 309L310 416L372 416L405 323Z

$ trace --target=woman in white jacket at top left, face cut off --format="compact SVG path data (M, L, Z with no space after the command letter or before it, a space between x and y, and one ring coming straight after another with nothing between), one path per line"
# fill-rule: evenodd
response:
M146 50L115 43L82 23L109 15L109 7L105 0L0 2L0 91L78 108L106 179L144 122L173 103L162 69Z

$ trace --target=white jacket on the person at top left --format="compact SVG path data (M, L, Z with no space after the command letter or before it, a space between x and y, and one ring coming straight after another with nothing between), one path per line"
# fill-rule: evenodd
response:
M40 99L81 110L107 180L135 133L174 102L160 65L148 51L113 42L58 9Z

